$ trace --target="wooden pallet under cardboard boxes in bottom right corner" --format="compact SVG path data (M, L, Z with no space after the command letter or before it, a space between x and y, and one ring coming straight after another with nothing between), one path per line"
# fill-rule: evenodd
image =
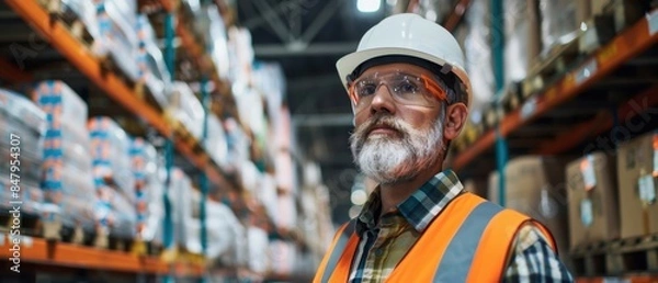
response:
M658 272L658 234L598 241L571 250L577 275L620 275Z

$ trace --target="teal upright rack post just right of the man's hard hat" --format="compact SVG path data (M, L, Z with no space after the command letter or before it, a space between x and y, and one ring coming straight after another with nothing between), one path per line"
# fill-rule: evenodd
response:
M502 0L490 0L491 5L491 59L496 79L496 101L500 101L504 88L504 18ZM497 103L497 102L496 102ZM500 107L501 105L496 105ZM508 146L500 128L496 129L496 165L498 168L498 201L504 206L506 178L504 167L508 161Z

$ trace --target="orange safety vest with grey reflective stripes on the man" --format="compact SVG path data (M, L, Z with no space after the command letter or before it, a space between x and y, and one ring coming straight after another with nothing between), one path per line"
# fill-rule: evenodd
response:
M430 224L386 282L500 282L515 235L527 223L535 224L557 252L553 236L542 224L463 193ZM359 246L353 224L340 227L314 282L348 282Z

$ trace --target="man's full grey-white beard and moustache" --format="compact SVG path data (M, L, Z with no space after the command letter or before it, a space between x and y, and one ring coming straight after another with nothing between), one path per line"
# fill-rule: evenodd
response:
M400 136L366 136L377 124L385 124ZM382 184L410 181L430 168L442 155L443 120L429 129L415 129L393 116L375 116L350 136L354 163Z

